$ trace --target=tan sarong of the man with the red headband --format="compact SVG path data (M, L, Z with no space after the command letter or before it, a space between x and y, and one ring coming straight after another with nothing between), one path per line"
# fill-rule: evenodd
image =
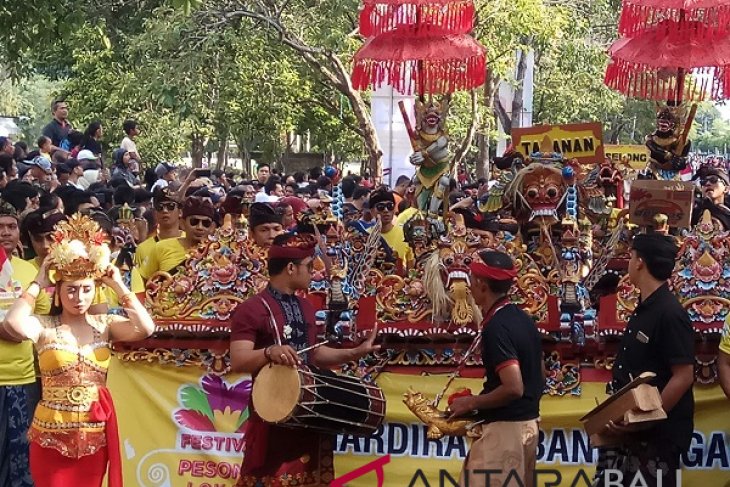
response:
M537 420L497 421L476 427L459 485L533 487L537 460Z

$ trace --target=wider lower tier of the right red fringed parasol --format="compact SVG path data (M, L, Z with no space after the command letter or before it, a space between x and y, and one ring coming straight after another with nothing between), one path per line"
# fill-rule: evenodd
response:
M649 1L649 0L645 0ZM609 48L605 83L627 96L650 100L722 100L730 96L730 35L709 42L703 37L667 37L682 23L665 20Z

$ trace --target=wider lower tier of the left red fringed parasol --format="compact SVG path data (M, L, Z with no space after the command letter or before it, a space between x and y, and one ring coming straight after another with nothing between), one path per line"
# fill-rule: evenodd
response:
M389 84L405 94L443 94L484 84L486 49L474 38L433 29L423 38L415 30L399 28L369 39L355 54L355 89Z

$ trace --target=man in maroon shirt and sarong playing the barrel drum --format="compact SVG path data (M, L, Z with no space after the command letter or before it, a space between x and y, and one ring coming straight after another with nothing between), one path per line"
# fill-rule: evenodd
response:
M287 233L274 239L269 248L269 285L241 303L231 321L233 371L250 373L255 381L259 370L270 363L327 368L380 348L373 345L377 334L374 329L353 349L321 346L304 350L317 340L315 310L295 292L309 288L315 246L314 237L308 234ZM329 485L334 478L332 436L267 424L254 411L246 424L245 438L238 486L314 487Z

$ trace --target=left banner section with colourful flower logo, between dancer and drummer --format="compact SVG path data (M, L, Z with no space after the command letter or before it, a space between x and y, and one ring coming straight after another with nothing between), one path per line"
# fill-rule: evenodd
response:
M243 458L250 378L114 360L125 485L230 487Z

